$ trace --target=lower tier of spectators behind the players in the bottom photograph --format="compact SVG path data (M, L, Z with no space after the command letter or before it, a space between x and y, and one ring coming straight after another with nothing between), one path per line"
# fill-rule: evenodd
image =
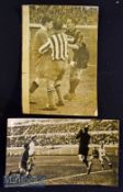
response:
M30 140L30 136L11 137L8 138L8 147L22 147L24 140ZM107 145L114 145L119 143L118 134L98 134L92 135L90 144L101 144L104 142ZM64 135L37 135L35 138L35 146L55 146L55 145L76 145L78 140L76 139L76 134L64 134Z

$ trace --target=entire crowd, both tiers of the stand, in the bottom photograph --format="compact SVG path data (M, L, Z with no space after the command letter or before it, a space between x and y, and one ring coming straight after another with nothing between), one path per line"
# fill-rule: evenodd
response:
M57 123L57 124L33 124L30 126L20 126L8 128L11 129L13 136L8 137L8 147L22 147L24 140L31 138L35 135L36 146L54 146L54 145L75 145L78 143L76 135L80 128L86 125L89 127L91 135L90 144L118 144L119 143L119 132L116 121L91 121L90 123ZM22 134L23 131L23 134ZM100 133L103 131L104 133ZM113 133L116 131L116 133ZM15 132L15 134L14 134ZM26 134L24 134L26 133ZM93 134L94 133L94 134ZM10 134L10 133L9 133Z

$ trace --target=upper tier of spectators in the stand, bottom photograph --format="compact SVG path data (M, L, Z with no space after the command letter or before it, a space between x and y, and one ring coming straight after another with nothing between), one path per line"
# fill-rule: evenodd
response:
M91 121L91 123L51 123L42 124L35 123L32 125L21 125L8 127L8 136L12 135L38 135L52 133L77 133L88 124L89 132L98 131L118 131L116 121Z

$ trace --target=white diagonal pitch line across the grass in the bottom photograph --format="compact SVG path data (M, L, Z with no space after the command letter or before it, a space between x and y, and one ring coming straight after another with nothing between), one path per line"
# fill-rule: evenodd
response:
M90 174L97 174L97 173L103 173L103 172L112 172L113 170L103 170L103 171L96 171L96 172L90 172ZM45 181L56 181L56 180L62 180L62 179L69 179L69 178L76 178L79 176L89 176L87 173L80 173L80 174L74 174L74 176L66 176L66 177L60 177L60 178L53 178L53 179L46 179Z

